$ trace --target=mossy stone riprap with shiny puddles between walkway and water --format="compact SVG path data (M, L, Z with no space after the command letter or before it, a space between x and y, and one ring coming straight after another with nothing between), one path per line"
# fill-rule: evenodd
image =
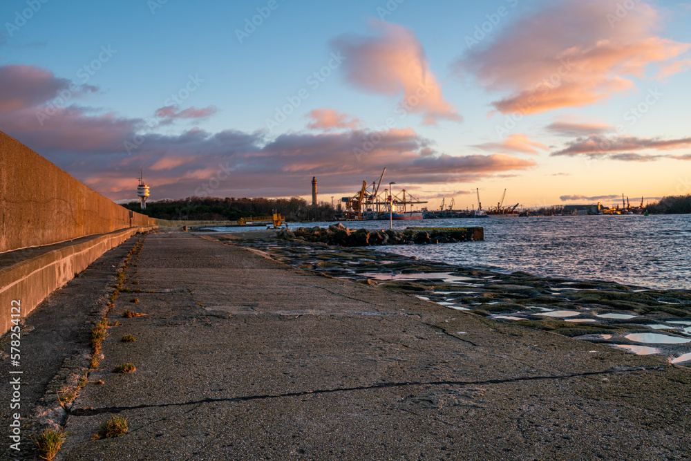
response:
M379 285L438 303L440 308L691 364L688 291L545 278L525 272L502 274L379 250L334 250L323 243L265 238L234 243L302 270Z

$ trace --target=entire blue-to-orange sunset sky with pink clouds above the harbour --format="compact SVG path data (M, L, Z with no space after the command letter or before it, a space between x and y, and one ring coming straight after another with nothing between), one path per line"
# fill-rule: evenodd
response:
M0 130L116 201L691 193L691 3L3 0Z

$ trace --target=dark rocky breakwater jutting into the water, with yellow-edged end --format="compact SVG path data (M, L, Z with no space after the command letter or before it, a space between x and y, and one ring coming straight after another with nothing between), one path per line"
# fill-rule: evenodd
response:
M341 247L368 247L372 245L435 245L484 240L482 227L464 228L408 228L400 230L348 229L343 224L323 227L281 229L276 236L282 240L326 243Z

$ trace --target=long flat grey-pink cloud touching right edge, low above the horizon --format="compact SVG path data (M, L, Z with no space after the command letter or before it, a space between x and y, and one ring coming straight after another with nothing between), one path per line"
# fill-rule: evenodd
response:
M590 135L587 138L577 138L568 142L567 147L549 154L550 156L579 156L585 155L591 158L606 157L609 153L620 153L619 160L630 160L625 156L632 154L623 152L654 149L667 151L691 147L691 138L679 138L665 140L660 138L637 138L636 136L613 136L607 138L601 135ZM609 156L612 158L613 156Z

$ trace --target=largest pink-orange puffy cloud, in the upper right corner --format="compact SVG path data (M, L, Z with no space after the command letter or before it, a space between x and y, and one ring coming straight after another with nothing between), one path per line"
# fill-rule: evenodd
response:
M609 16L608 16L609 15ZM595 104L634 88L649 66L661 75L680 71L668 64L690 44L654 34L659 15L644 1L621 21L605 1L555 2L504 28L486 46L455 62L490 91L509 92L492 103L501 113L540 113Z

